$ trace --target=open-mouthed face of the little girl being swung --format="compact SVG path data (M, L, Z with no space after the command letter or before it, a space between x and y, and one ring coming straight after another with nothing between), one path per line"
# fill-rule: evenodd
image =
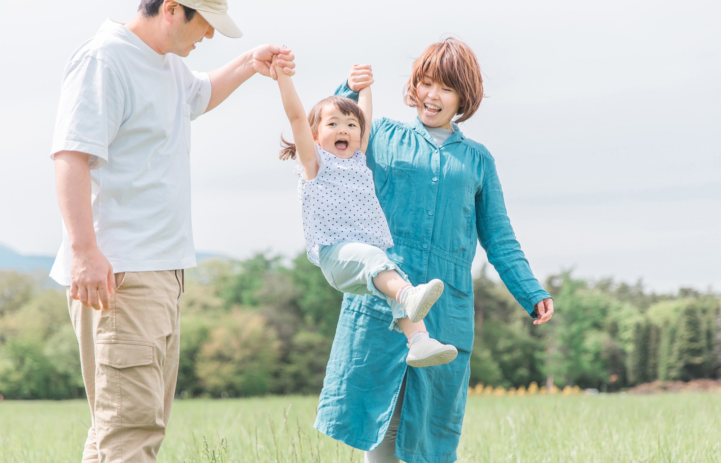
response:
M345 115L335 105L326 105L316 141L325 151L348 159L361 147L361 124L355 115Z

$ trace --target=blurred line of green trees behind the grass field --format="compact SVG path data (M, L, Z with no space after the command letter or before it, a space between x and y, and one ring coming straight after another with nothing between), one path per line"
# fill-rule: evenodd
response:
M206 260L186 272L185 283L177 394L320 391L342 294L304 254L292 262L266 255ZM552 322L534 326L503 283L485 269L475 278L471 385L614 391L721 374L717 294L687 288L654 294L640 283L583 281L570 273L545 286L556 312ZM0 271L0 394L84 397L65 291L13 271Z

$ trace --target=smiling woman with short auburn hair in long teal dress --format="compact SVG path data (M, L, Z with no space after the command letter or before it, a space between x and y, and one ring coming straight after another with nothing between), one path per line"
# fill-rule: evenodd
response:
M353 66L338 94L359 98L373 81L370 66ZM474 304L471 263L477 242L505 286L534 323L553 313L552 299L531 272L505 211L495 162L482 144L461 133L483 96L481 71L468 45L443 40L413 62L404 89L412 123L373 120L366 151L394 247L411 281L427 275L446 289L426 318L440 342L453 340L455 361L407 369L389 339L356 343L383 326L370 314L377 298L347 295L338 319L315 427L366 450L366 462L456 461L469 381ZM519 429L520 435L536 433Z

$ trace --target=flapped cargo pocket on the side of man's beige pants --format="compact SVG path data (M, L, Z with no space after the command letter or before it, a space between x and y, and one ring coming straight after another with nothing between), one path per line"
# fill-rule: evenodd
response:
M95 419L102 423L149 425L162 420L162 374L153 345L136 340L97 340Z

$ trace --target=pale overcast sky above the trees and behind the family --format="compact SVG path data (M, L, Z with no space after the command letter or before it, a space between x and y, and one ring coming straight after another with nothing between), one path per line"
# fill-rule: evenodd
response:
M260 43L296 54L306 108L371 63L373 115L410 121L412 59L445 34L485 75L466 136L495 156L511 223L539 278L560 270L650 288L721 289L721 4L717 1L239 1L244 36L217 34L186 62L208 71ZM61 216L48 159L63 66L138 0L3 6L0 242L54 254ZM22 19L22 20L21 20ZM304 249L290 133L275 82L254 76L193 122L198 250ZM479 249L476 268L485 255ZM495 273L494 273L495 274Z

